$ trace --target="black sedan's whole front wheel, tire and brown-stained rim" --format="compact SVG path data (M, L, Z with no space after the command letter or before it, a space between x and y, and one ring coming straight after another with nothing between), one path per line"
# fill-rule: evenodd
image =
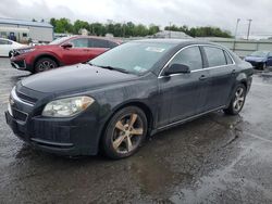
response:
M101 144L103 153L114 160L135 154L147 135L146 114L136 106L118 111L107 125Z

